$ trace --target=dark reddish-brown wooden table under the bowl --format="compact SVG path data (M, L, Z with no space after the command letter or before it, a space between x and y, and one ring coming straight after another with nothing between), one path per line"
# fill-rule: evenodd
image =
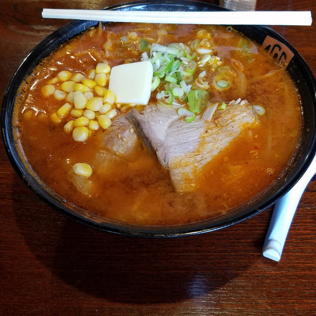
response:
M1 100L27 53L66 23L42 19L43 7L120 2L2 0ZM312 27L272 28L316 75L316 2L258 0L257 9L312 10ZM0 315L316 315L316 181L277 263L261 254L272 209L208 234L141 239L85 227L47 207L15 174L2 145L0 177Z

